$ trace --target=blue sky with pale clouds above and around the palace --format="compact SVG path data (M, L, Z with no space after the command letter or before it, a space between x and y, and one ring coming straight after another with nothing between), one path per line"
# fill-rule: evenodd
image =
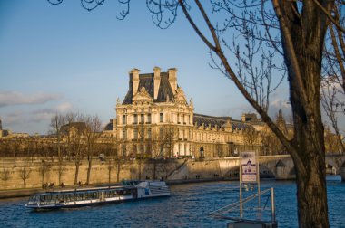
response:
M108 0L88 12L77 0L0 1L3 128L46 134L54 114L69 111L98 115L105 125L128 90L128 72L150 73L155 66L178 69L195 113L241 119L253 111L232 81L210 68L209 49L181 11L170 28L160 29L145 1L135 1L122 21L116 19L121 7ZM272 94L272 116L289 112L284 84Z

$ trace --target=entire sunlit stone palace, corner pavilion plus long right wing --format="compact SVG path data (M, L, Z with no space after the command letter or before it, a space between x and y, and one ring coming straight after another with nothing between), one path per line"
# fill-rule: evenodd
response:
M231 117L194 114L177 83L177 69L153 73L129 72L129 90L116 104L116 119L104 134L116 135L118 153L129 157L229 157L240 150L258 147L245 143L254 128ZM245 146L245 144L247 146Z

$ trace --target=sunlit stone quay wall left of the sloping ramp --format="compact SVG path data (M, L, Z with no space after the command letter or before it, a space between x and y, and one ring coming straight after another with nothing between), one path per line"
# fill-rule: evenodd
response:
M44 160L44 162L43 162ZM141 178L153 179L155 172L156 179L166 179L175 169L178 169L184 160L166 159L166 160L143 160L139 164L138 160L126 160L112 163L106 160L102 161L94 157L90 175L90 185L102 185L117 182L123 179L138 179L139 167L141 166ZM48 164L44 168L43 164ZM58 186L59 183L59 165L57 159L44 157L1 157L0 158L0 190L5 189L23 189L23 188L41 188L47 183ZM74 185L75 163L74 161L64 160L61 182L64 185ZM45 169L45 171L43 171ZM80 161L79 174L77 182L83 185L86 182L88 170L88 161ZM25 175L27 177L25 178Z

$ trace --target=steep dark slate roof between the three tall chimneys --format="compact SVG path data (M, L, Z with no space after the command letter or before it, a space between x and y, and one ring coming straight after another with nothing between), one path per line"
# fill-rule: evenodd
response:
M150 94L153 98L154 92L154 83L153 83L153 73L144 73L139 74L139 86L138 91L141 88L145 88L145 90ZM169 74L168 72L161 72L161 82L158 90L157 99L153 100L153 102L166 102L166 101L174 101L173 98L173 89L169 83ZM127 91L126 96L124 97L123 104L132 104L133 103L133 87L132 87L132 77L130 78L130 86L129 90Z

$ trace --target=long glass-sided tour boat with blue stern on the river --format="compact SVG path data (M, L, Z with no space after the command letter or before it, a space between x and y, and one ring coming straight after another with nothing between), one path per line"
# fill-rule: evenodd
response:
M109 204L171 195L163 181L123 181L123 186L48 191L30 196L25 206L34 210Z

